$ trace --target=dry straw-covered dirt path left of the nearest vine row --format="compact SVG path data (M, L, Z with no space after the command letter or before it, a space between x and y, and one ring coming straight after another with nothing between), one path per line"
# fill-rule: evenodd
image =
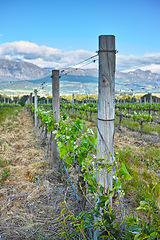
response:
M0 185L0 239L63 239L58 235L60 203L69 197L72 210L76 199L44 158L32 118L23 109L0 132L0 158L6 164L2 170L9 174Z

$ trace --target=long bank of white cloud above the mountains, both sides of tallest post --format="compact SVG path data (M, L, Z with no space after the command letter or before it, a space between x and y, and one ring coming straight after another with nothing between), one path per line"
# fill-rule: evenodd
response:
M57 48L38 46L37 44L28 41L16 41L0 45L0 58L22 60L31 62L40 67L57 69L77 64L93 55L95 55L94 52L82 49L63 51ZM160 73L160 53L145 54L144 56L125 56L117 54L116 62L116 70L119 71L142 69ZM97 64L92 63L87 65L86 68L96 66Z

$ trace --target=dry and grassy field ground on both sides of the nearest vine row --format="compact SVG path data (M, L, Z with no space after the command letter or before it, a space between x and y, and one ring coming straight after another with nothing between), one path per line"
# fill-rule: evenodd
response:
M72 116L74 119L75 116ZM84 130L96 127L85 121ZM130 181L122 177L124 207L127 214L136 211L139 202L150 199L160 207L160 142L158 136L141 135L126 128L115 129L115 156L124 162ZM57 219L64 199L71 211L78 211L78 204L62 169L59 177L52 168L48 148L42 146L43 134L34 128L33 119L26 108L7 111L0 126L0 209L2 239L65 239ZM75 182L72 167L68 169ZM113 208L120 214L115 194ZM89 209L90 206L86 206ZM145 215L144 215L145 216ZM78 239L78 238L71 238Z

